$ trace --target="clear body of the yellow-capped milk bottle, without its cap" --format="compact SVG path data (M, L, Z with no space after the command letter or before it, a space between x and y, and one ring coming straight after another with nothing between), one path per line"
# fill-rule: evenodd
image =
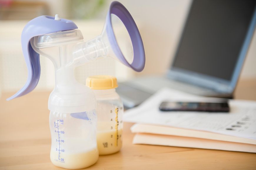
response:
M113 154L122 147L123 103L115 89L93 91L97 100L99 154Z

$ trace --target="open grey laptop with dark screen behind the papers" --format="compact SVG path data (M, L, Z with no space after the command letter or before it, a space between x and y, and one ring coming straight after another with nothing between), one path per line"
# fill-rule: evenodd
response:
M194 0L168 72L119 83L132 108L163 87L232 98L256 25L256 1Z

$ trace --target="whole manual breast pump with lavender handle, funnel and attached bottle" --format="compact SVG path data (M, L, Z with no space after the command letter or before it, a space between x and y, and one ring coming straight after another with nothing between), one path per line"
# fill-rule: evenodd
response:
M123 26L122 35L127 35L127 39L120 38L115 31L116 23ZM40 77L39 54L49 58L55 67L55 88L48 101L50 159L54 165L67 169L94 164L99 155L95 97L91 89L76 81L74 69L109 56L137 72L144 69L142 39L129 11L121 3L112 2L102 34L87 42L73 21L58 15L39 16L24 27L21 45L28 79L24 87L7 100L32 91Z

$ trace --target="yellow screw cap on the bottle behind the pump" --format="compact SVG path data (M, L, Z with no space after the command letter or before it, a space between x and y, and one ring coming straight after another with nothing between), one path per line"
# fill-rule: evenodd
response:
M86 86L94 90L117 88L117 78L108 75L90 76L86 79Z

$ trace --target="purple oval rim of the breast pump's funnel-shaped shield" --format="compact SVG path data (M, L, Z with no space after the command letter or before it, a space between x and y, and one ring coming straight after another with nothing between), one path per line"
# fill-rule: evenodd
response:
M111 23L111 14L116 15L127 29L133 47L133 61L129 64L120 50ZM139 29L133 20L129 11L118 1L113 1L110 4L106 19L106 31L109 38L110 45L117 56L117 58L126 66L131 67L137 72L141 72L145 67L145 51Z

